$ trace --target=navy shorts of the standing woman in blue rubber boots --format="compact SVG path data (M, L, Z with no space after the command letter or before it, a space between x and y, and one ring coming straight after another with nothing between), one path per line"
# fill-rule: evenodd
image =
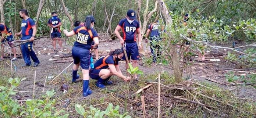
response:
M88 49L83 49L80 47L72 48L72 57L74 59L74 64L79 64L82 69L89 69L90 67L90 51Z

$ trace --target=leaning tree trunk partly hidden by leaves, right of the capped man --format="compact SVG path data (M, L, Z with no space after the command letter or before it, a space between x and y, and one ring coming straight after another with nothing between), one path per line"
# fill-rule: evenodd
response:
M165 18L166 25L170 26L172 24L172 18L169 15L168 9L167 9L164 1L163 0L157 0L157 1L159 3L161 12ZM172 38L171 33L167 32L167 34L168 34L169 40L174 40L174 38ZM171 43L169 43L169 45L170 45L171 64L172 64L173 71L174 71L175 81L178 83L178 82L182 81L182 68L180 68L180 66L179 66L179 57L176 52L175 45L171 44Z

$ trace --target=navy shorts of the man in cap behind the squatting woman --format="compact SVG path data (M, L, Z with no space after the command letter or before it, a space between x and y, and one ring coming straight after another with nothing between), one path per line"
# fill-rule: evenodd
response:
M128 60L138 60L139 59L139 48L136 42L133 43L124 43L126 49ZM123 50L123 49L122 49ZM125 55L122 57L122 60L125 60Z

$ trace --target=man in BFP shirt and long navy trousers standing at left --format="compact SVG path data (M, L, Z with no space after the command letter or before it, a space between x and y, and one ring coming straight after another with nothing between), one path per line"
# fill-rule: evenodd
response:
M21 22L21 31L19 33L15 33L15 36L22 35L21 40L30 39L29 42L25 44L21 44L21 52L25 64L23 67L30 66L31 61L30 57L34 61L33 67L37 67L39 65L38 57L36 57L35 52L32 49L33 40L36 36L36 25L33 19L28 17L28 11L25 9L19 10L19 17L22 18ZM30 57L29 57L30 56Z

